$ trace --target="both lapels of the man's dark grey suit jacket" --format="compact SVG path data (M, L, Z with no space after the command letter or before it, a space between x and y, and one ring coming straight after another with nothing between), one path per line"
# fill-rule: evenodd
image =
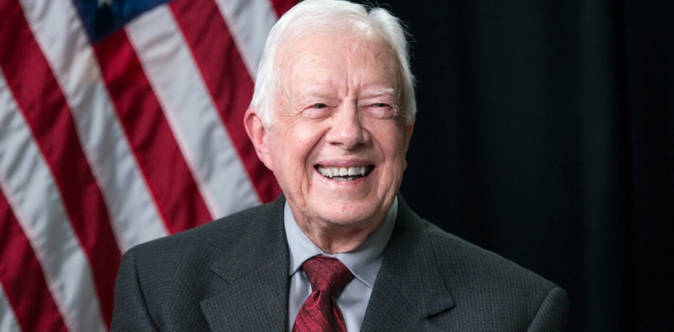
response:
M284 331L288 306L285 198L251 214L238 244L210 269L212 296L202 300L213 331ZM434 331L428 319L454 306L421 218L398 194L398 217L384 252L361 331ZM443 294L443 296L438 296Z

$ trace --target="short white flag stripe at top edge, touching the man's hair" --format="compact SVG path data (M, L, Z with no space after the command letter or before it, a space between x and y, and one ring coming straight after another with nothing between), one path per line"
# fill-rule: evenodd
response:
M253 81L269 31L278 18L270 0L216 0Z

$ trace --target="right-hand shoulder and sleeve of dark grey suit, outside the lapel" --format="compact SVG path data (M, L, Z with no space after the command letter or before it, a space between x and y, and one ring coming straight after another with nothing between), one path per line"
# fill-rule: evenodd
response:
M476 319L489 316L493 320L489 322L495 325L510 325L508 331L527 329L539 317L541 321L553 321L555 329L551 331L563 327L563 323L555 322L565 320L568 300L559 286L494 252L424 223L437 266L460 304L454 314ZM474 327L470 325L474 322L468 319L466 329ZM489 322L481 322L487 329Z

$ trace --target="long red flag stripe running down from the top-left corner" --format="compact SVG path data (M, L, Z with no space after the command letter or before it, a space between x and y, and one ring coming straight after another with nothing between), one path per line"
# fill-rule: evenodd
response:
M65 97L20 3L0 0L0 13L4 20L0 24L0 67L59 187L94 273L103 319L110 326L121 254L103 196L84 157Z

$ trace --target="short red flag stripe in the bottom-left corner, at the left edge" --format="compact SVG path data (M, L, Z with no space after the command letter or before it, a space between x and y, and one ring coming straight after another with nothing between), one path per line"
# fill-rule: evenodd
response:
M67 331L40 262L1 190L0 283L23 331Z

